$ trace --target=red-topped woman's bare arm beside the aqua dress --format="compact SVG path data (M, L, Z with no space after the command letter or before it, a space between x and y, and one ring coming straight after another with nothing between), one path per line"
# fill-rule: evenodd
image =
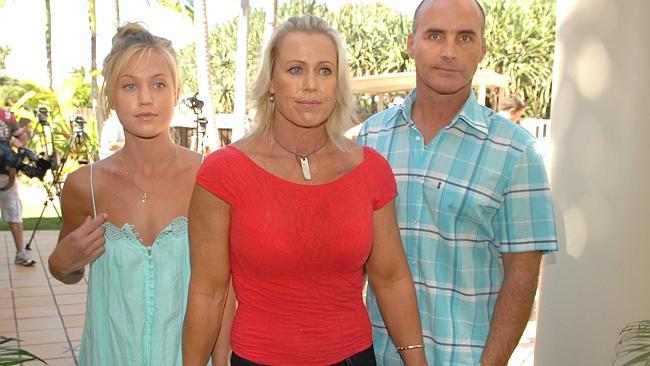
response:
M192 275L183 325L183 365L205 365L215 347L230 284L230 206L194 187L189 213Z

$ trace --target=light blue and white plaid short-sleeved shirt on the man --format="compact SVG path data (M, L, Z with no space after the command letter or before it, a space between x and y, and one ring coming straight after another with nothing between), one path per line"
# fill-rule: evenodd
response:
M503 280L502 252L555 251L553 204L535 138L474 93L424 145L404 103L370 117L358 142L386 157L431 365L476 365ZM368 310L379 365L399 365L377 299Z

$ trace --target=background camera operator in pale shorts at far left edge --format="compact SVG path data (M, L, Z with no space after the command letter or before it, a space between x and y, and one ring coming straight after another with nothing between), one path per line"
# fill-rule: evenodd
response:
M7 165L8 155L14 154L12 148L21 148L25 141L25 127L19 126L16 116L9 110L0 108L0 210L2 222L9 225L16 246L15 264L29 267L36 263L25 250L23 232L23 205L18 194L16 169Z

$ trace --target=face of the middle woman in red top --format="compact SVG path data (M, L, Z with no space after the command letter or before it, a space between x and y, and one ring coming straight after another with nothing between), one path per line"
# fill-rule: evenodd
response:
M327 121L336 103L337 53L324 34L291 32L278 45L271 75L275 122L313 128Z

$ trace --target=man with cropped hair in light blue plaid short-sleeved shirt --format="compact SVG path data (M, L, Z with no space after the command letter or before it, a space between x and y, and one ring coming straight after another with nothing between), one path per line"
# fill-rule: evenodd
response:
M397 180L433 365L507 365L530 316L542 254L557 250L534 137L479 105L471 89L484 29L476 0L422 1L408 38L416 89L369 118L358 137L386 157ZM367 302L378 364L399 365L372 290Z

